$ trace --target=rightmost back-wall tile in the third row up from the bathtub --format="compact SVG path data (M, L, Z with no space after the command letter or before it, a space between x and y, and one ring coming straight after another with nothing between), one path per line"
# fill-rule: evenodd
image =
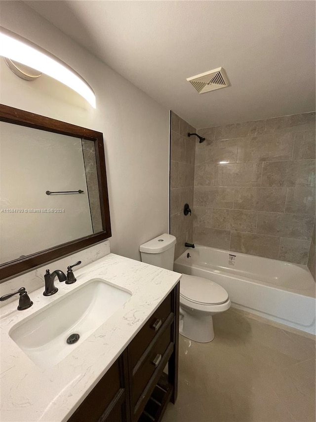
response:
M315 188L287 188L285 212L315 215Z

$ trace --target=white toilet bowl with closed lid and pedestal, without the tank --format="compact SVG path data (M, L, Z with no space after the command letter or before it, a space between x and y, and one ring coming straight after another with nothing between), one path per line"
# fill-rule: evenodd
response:
M180 279L180 334L199 343L214 339L212 316L227 311L231 301L219 284L183 274Z

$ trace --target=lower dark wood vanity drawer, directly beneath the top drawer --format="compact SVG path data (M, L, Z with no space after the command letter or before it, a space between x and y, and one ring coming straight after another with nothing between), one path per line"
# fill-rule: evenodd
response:
M162 363L164 361L163 356L168 348L172 344L171 337L171 326L169 326L165 332L163 332L158 339L158 341L153 344L150 348L148 355L144 359L144 362L137 369L137 372L133 375L132 379L132 409L135 408L137 401L140 399L144 389L149 383L152 375L159 368L161 372L163 371L164 366Z

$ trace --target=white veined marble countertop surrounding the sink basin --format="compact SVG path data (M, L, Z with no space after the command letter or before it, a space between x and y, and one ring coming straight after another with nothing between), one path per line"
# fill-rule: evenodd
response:
M18 296L0 309L1 422L67 421L181 277L113 253L74 273L74 284L56 279L59 290L53 296L43 296L44 283L30 293L34 305L27 310L17 311ZM11 339L9 330L97 277L130 290L132 296L65 359L40 368Z

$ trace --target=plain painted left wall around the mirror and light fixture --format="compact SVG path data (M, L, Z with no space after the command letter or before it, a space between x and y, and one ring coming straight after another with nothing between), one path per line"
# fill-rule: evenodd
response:
M22 2L1 1L0 7L3 27L50 51L86 79L97 108L49 77L19 79L2 58L1 103L103 133L111 250L140 260L139 245L168 231L168 110Z

